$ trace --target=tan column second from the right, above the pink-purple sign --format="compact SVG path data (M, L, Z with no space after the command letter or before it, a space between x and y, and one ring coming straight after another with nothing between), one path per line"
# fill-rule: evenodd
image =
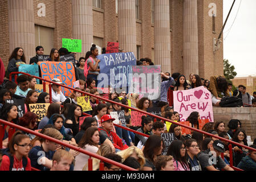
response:
M169 0L155 0L155 65L170 72Z

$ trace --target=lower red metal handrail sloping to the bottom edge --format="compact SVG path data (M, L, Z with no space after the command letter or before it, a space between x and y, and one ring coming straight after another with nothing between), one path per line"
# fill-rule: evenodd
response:
M99 160L102 160L106 163L109 163L109 164L112 164L112 165L115 165L115 166L118 166L120 168L123 168L125 170L128 170L128 171L137 171L137 169L133 169L131 167L128 167L128 166L125 166L124 164L121 164L121 163L118 163L118 162L115 162L113 160L110 160L108 158L104 158L103 156L100 156L100 155L97 155L97 154L94 154L92 152L89 152L89 151L86 151L86 150L83 150L82 148L78 148L78 147L75 147L75 146L72 146L71 144L67 144L67 143L64 143L58 139L55 139L55 138L51 138L47 135L44 135L44 134L41 134L41 133L38 133L36 131L32 131L30 129L27 129L26 127L22 127L22 126L19 126L19 125L15 125L14 123L11 123L11 122L8 122L8 121L5 121L3 119L0 119L0 123L2 123L3 125L8 125L10 127L13 127L13 128L16 128L18 130L22 130L22 131L25 131L26 133L30 133L30 134L33 134L33 135L36 135L40 138L44 138L44 139L47 139L47 140L50 140L51 142L54 142L54 143L58 143L62 146L65 146L65 147L68 147L68 148L71 148L73 150L76 150L76 151L79 151L83 154L86 154L86 155L89 155L89 156L92 156L94 158L97 158ZM2 137L1 137L2 138ZM2 142L1 142L2 143Z

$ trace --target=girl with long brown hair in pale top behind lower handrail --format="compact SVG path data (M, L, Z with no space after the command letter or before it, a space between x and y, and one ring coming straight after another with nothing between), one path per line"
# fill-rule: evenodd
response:
M98 144L100 141L100 135L99 131L97 130L96 127L89 127L86 132L84 133L82 139L78 143L78 147L83 148L86 151L95 153L97 152ZM88 159L90 156L80 153L76 156L75 160L75 171L82 171L84 164L88 162Z

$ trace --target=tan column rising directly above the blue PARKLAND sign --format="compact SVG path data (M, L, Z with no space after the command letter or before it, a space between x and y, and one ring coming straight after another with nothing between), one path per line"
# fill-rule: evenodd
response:
M119 47L137 55L135 0L118 0Z

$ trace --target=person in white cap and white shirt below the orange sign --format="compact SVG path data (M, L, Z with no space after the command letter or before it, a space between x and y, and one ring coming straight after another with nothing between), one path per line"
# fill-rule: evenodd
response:
M64 85L63 82L60 82L58 78L53 78L51 81L56 82L57 84ZM62 102L66 100L66 97L64 96L59 87L59 85L51 84L51 100L52 102L62 104Z

